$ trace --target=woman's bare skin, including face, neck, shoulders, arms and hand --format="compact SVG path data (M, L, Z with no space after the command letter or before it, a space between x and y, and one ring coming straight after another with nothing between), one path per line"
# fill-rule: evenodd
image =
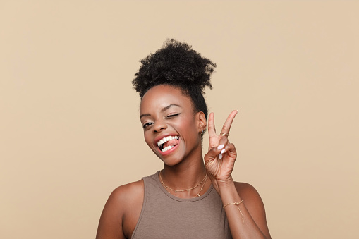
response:
M221 133L229 133L238 111L232 111L224 123ZM264 205L257 190L248 183L234 182L231 176L236 161L236 147L228 137L217 135L214 128L214 114L208 117L209 150L202 157L201 132L207 122L203 112L195 112L191 99L178 87L157 85L142 97L140 120L144 128L147 145L164 162L162 180L170 188L191 188L206 175L207 180L201 195L211 183L219 193L223 204L241 202L238 207L229 204L224 209L233 238L271 238L267 227ZM178 135L178 145L169 153L159 152L157 141L166 135ZM222 145L223 149L219 149ZM222 152L221 159L219 154ZM198 191L173 192L181 198L195 197ZM143 181L129 183L116 188L104 206L97 239L131 238L143 202Z

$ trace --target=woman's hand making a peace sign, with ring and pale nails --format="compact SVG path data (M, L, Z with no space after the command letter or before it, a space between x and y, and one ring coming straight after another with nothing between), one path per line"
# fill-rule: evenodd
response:
M229 142L228 136L237 113L238 111L232 111L229 114L219 135L216 134L216 128L214 127L213 112L208 117L209 146L208 152L205 154L205 166L208 176L217 191L219 190L219 184L233 182L232 171L237 152L236 147Z

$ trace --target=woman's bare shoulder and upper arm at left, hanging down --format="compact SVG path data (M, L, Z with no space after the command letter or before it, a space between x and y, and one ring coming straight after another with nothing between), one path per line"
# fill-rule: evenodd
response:
M143 195L143 180L116 188L104 206L96 238L130 238L140 217Z

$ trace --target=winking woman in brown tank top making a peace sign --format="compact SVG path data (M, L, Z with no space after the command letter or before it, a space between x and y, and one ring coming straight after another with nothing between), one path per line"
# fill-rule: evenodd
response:
M260 195L231 176L237 153L228 137L238 111L219 135L209 114L209 150L202 157L203 90L212 88L216 65L173 39L141 63L133 80L140 121L164 168L111 193L97 238L270 238Z

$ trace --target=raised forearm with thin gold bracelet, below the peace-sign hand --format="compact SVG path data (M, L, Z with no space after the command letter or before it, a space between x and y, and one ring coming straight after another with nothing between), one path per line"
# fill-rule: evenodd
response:
M237 202L240 203L243 199L238 195L236 186L231 180L227 183L219 183L218 190L221 200L224 205L228 203ZM245 207L246 202L242 202L238 205L228 204L224 207L226 217L229 222L229 228L231 229L231 235L233 238L266 238L255 221L252 219L250 212Z

